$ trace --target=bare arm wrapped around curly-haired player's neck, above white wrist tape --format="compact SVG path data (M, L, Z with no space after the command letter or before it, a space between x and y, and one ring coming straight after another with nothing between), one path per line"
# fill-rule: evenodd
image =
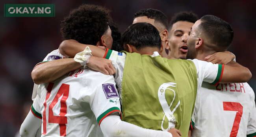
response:
M100 49L99 47L96 47L94 45L86 45L82 43L78 43L76 40L64 40L61 42L59 45L59 52L63 56L68 56L68 57L74 57L78 52L82 52L85 47L90 47L91 49L91 54L96 57L103 58L105 55L105 50Z

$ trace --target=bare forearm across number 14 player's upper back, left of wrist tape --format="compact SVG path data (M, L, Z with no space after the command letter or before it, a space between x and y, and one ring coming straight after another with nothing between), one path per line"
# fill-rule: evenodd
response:
M57 59L37 65L31 72L31 77L36 84L54 81L67 72L80 68L80 63L73 58Z

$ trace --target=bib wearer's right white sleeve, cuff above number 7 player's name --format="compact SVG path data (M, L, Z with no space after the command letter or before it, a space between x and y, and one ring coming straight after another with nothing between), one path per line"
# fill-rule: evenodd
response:
M191 60L191 59L188 59ZM191 60L197 68L197 82L202 86L202 82L208 82L217 85L221 81L224 65L213 64L211 62L201 61L198 59Z

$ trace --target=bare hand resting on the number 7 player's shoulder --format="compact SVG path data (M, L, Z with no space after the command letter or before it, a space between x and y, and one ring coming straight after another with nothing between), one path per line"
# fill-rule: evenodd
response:
M224 64L226 65L235 58L234 54L229 51L216 52L212 55L208 55L204 58L205 61L213 64Z

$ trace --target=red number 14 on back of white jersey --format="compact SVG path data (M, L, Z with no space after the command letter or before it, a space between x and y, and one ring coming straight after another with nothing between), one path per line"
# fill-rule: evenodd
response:
M53 85L54 85L54 83L49 83L49 85L47 87L48 92L46 93L46 98L45 98L45 102L44 102L44 106L45 106L45 109L43 111L43 134L44 135L46 134L46 101L50 97ZM68 99L68 96L69 96L69 85L62 84L61 87L59 88L56 96L54 97L52 103L49 106L48 123L57 123L57 124L59 124L60 136L66 136L67 117L65 117L65 115L67 114L66 100ZM58 102L59 97L61 97L60 113L59 113L59 116L56 116L56 115L53 115L52 108Z

